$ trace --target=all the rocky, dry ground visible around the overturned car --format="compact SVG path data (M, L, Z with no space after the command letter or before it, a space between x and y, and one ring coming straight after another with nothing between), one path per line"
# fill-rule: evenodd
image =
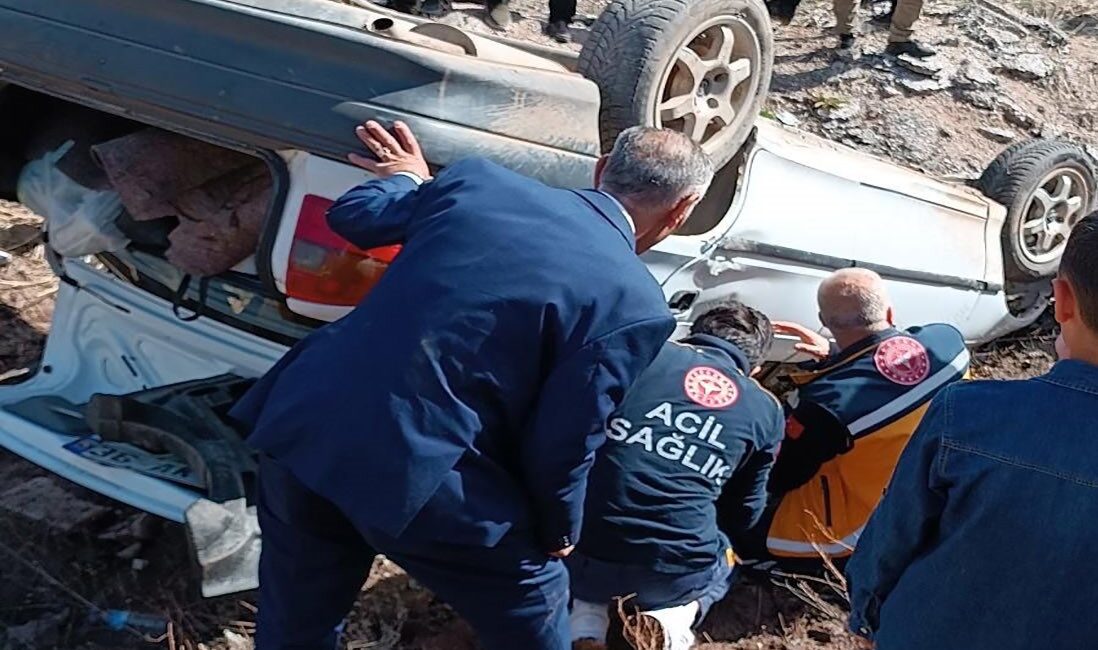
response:
M514 0L512 36L540 35L541 0ZM595 14L601 0L582 0ZM1061 135L1098 144L1098 0L931 0L919 35L930 61L882 56L884 32L867 25L862 52L838 56L828 3L806 0L780 27L765 116L798 125L929 173L972 178L1008 142ZM488 30L482 10L448 19ZM584 27L575 27L582 41ZM0 382L33 371L57 282L38 220L0 202ZM1053 326L976 352L982 378L1030 377L1052 363ZM182 529L55 479L0 452L0 648L81 650L251 647L255 594L202 599ZM746 583L706 623L708 650L847 649L841 598L789 579ZM108 629L98 608L153 617L148 628ZM170 624L170 625L169 625ZM142 626L137 626L142 627ZM161 628L160 631L157 628ZM348 649L474 648L460 619L384 561L376 565L347 628Z

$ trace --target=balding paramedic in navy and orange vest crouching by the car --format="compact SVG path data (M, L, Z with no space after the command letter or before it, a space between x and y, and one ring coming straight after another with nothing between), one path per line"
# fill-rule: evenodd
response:
M820 283L818 303L834 348L805 327L774 324L819 359L791 378L797 389L771 472L772 498L781 501L766 551L778 561L850 556L930 400L968 369L954 327L893 326L884 281L873 271L834 272Z

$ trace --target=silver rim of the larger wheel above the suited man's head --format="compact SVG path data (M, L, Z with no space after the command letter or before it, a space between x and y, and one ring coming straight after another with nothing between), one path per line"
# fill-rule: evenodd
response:
M749 110L761 60L759 38L743 19L703 23L663 72L654 124L685 133L713 153L731 135L727 127Z

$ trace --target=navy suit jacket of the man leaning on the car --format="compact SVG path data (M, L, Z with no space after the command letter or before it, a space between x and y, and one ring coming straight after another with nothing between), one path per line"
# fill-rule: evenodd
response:
M368 181L328 223L404 247L236 405L250 444L360 530L576 540L607 417L674 328L620 206L468 159Z

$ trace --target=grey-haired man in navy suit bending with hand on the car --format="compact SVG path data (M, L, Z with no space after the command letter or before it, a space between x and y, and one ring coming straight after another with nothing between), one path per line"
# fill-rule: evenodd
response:
M403 249L345 318L235 407L260 450L259 650L332 648L384 553L489 650L568 648L568 578L606 421L670 336L637 258L713 178L685 136L621 134L597 190L483 159L430 178L400 122L358 131L379 178L328 211L361 248Z

